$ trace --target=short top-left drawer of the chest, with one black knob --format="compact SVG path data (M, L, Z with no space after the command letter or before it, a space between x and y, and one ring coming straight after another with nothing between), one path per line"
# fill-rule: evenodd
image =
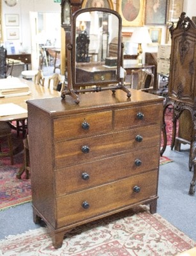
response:
M70 140L79 136L108 132L111 129L112 111L71 116L54 120L54 140Z

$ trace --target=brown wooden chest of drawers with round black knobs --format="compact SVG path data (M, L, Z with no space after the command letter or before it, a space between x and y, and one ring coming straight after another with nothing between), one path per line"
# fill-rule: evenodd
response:
M34 222L55 248L73 227L133 205L156 212L162 98L119 90L27 105Z

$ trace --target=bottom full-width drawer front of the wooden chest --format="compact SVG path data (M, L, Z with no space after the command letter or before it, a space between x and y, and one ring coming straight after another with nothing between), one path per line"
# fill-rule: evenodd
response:
M57 228L156 196L156 170L57 198ZM138 186L140 191L133 188ZM87 202L84 204L84 202ZM84 209L82 205L85 205Z

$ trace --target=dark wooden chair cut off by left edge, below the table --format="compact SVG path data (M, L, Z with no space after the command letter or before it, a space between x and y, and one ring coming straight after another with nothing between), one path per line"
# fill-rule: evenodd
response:
M0 147L0 157L10 156L11 164L13 164L13 145L11 141L11 127L6 122L0 122L0 138L7 138L9 147L8 152L1 152Z

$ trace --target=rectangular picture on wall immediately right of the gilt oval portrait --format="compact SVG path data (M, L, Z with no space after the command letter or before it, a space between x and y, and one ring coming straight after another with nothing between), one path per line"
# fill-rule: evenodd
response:
M147 0L145 8L145 25L165 25L167 17L167 0Z

